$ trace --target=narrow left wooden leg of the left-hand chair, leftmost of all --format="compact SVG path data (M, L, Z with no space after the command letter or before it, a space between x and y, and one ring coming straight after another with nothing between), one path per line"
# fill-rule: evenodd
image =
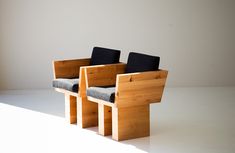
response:
M76 97L65 94L65 119L70 124L77 122Z

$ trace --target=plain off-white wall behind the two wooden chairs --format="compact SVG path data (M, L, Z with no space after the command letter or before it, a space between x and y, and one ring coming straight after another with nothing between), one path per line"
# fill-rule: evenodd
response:
M161 57L169 86L235 85L234 0L0 0L0 88L51 87L93 46Z

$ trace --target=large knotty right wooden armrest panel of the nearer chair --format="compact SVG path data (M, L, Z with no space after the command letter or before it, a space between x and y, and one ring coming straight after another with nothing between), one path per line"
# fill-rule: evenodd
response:
M168 71L118 74L115 105L130 107L160 102Z

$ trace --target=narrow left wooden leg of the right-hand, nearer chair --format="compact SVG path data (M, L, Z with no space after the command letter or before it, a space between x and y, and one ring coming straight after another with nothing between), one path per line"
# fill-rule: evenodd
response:
M111 135L112 134L112 108L99 104L99 134Z

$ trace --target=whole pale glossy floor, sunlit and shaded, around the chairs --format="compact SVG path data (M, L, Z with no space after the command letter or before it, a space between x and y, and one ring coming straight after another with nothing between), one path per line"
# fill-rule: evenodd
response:
M151 136L113 141L64 121L53 90L0 92L0 153L234 153L235 87L167 88L151 105Z

